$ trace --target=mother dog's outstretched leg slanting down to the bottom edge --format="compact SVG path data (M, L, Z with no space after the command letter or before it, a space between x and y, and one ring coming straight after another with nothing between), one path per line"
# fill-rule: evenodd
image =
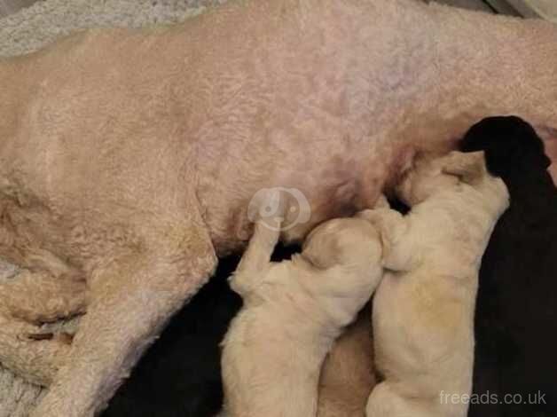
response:
M175 243L106 260L93 271L91 303L67 361L33 417L92 417L102 409L167 320L216 266L208 233L184 227ZM162 233L164 234L164 233Z

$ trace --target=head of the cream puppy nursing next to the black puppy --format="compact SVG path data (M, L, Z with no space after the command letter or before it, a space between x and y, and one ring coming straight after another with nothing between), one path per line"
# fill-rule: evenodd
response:
M482 152L451 152L442 157L419 154L412 169L396 185L396 195L404 204L412 207L435 193L456 187L460 183L475 184L485 175Z

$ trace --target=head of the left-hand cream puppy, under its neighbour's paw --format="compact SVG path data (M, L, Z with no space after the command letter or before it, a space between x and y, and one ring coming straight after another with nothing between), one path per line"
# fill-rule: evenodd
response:
M320 269L337 265L367 268L381 261L379 232L362 218L336 218L316 227L302 247L302 256Z

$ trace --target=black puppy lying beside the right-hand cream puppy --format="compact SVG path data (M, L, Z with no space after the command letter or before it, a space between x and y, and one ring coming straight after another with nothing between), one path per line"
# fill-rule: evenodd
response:
M482 259L475 312L474 393L497 397L472 403L468 415L553 417L557 189L547 172L550 161L536 132L517 117L478 122L461 148L483 150L488 170L511 195Z

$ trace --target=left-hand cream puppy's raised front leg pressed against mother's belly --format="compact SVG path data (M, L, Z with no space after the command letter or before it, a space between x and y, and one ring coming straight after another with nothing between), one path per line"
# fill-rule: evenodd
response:
M230 280L231 288L242 297L247 296L269 267L272 252L280 237L281 224L279 217L255 222L254 234Z

